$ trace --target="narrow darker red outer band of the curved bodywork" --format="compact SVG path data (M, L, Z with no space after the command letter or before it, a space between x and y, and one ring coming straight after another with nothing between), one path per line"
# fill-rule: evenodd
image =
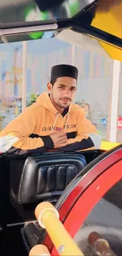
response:
M94 167L91 168L90 171L86 173L86 175L81 177L79 183L76 184L76 187L72 188L72 191L69 193L68 197L65 199L65 202L62 203L61 208L59 209L60 220L62 221L62 223L64 223L65 218L68 216L68 213L72 211L77 200L83 196L83 192L87 191L88 187L93 183L94 180L98 178L98 176L102 176L102 173L104 173L106 169L109 169L110 166L114 165L121 158L122 149L120 148L118 150L115 150L115 152L113 152L112 154L109 154L108 156L103 158L102 161L99 161L96 165L94 165ZM90 198L90 196L91 194L87 198ZM43 243L49 248L49 250L51 250L51 248L53 247L53 243L51 242L48 235L46 235Z

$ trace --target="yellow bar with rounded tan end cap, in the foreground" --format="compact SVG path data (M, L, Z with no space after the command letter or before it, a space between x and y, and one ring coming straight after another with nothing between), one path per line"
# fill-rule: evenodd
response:
M57 210L50 202L42 202L35 209L35 216L39 224L46 228L50 239L54 243L59 255L62 256L83 256L83 252L69 236L64 225L58 219Z

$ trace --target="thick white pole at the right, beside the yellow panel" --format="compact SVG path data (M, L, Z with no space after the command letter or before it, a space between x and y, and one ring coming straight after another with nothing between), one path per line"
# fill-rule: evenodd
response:
M109 141L116 142L116 128L118 121L118 102L120 88L120 61L113 61L113 80L110 102L110 125L109 125Z

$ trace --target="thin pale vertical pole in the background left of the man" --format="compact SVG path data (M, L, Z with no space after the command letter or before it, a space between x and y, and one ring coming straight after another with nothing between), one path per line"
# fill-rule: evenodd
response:
M26 107L27 83L27 42L23 42L23 75L22 75L22 112Z

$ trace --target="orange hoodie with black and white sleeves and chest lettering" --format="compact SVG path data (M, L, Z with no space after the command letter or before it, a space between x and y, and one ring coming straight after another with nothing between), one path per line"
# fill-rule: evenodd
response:
M43 92L37 101L24 109L15 120L0 132L0 151L9 154L40 153L54 150L50 138L53 132L66 132L68 145L58 150L92 150L101 145L101 138L84 110L72 103L68 113L57 112L48 93Z

